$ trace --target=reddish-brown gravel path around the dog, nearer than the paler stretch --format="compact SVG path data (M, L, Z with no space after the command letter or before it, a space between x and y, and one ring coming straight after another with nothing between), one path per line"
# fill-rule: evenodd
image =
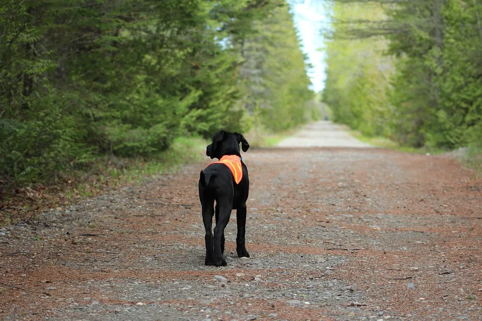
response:
M203 265L204 165L187 166L1 230L0 318L482 320L481 184L457 163L375 148L243 158L250 259L233 215L228 266Z

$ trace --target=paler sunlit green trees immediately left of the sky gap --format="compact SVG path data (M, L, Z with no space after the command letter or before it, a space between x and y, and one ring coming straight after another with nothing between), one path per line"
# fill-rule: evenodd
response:
M306 57L288 6L278 7L270 17L254 24L255 34L240 44L245 63L242 74L242 103L255 126L282 131L313 119L308 102Z

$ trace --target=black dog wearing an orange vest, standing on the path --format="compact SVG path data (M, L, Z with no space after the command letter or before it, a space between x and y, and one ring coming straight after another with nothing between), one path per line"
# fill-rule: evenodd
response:
M226 260L222 256L224 253L224 228L229 222L231 210L236 210L237 256L250 257L245 247L246 200L248 199L250 181L248 169L241 161L239 143L241 143L243 151L247 151L250 147L242 134L221 130L212 136L212 143L206 147L206 155L220 159L220 162L213 163L201 171L199 178L199 200L201 201L202 220L206 230L204 237L206 241L204 264L206 265L226 265ZM237 157L239 157L240 162ZM228 165L232 166L233 170ZM236 180L238 183L236 183ZM215 209L214 201L216 201ZM214 213L216 214L216 227L213 236L211 226Z

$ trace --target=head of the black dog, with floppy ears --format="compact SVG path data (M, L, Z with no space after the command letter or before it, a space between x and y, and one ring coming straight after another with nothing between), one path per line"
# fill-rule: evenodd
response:
M212 143L206 147L206 155L212 158L220 159L223 155L238 155L239 143L243 151L247 151L250 148L250 144L238 132L227 132L224 130L218 131L212 136Z

